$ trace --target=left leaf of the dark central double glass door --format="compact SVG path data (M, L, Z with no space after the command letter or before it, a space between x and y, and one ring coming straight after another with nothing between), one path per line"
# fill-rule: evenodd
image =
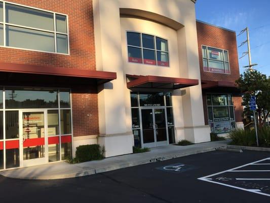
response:
M142 147L156 147L155 130L153 128L153 110L141 110Z

